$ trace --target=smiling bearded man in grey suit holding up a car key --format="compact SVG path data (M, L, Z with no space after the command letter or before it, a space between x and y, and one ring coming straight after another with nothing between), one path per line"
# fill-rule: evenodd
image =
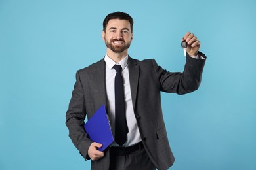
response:
M85 159L91 159L91 169L168 169L173 165L167 132L161 112L160 92L185 94L197 90L202 78L205 55L199 52L200 41L188 32L182 38L186 48L183 73L171 73L157 65L154 59L139 61L128 56L133 40L133 19L129 14L114 12L103 22L102 39L106 56L76 73L66 126L70 138ZM121 65L121 71L116 67ZM124 104L116 103L116 76L121 73ZM83 128L88 119L106 106L115 142L100 152L102 146L89 139ZM125 121L119 123L123 106ZM118 119L117 119L118 118ZM119 130L125 132L119 134ZM124 134L124 135L123 135ZM119 138L122 136L119 142Z

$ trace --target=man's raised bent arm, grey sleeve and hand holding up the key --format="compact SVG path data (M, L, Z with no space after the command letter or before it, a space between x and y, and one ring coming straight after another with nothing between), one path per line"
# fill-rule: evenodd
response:
M166 71L153 62L160 88L163 92L181 95L193 92L200 86L206 60L205 54L199 52L200 41L190 32L184 35L182 41L186 41L188 44L186 47L186 65L183 73Z

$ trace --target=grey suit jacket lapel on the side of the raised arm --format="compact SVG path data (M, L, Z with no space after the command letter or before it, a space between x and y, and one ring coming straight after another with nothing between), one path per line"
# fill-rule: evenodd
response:
M140 67L137 64L137 62L134 59L132 59L130 56L129 56L128 62L129 62L128 63L129 79L130 79L130 86L131 86L131 99L133 101L133 109L135 109Z

